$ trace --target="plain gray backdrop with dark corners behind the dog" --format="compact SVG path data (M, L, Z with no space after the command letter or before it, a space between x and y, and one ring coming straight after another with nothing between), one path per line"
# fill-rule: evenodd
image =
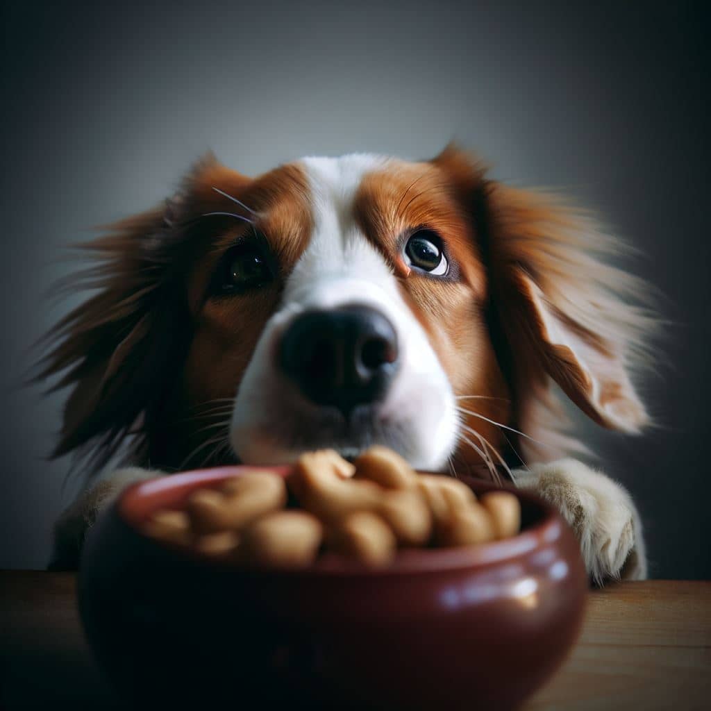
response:
M653 574L711 577L708 26L690 4L620 5L5 4L0 567L43 567L73 494L44 459L62 397L20 385L70 306L43 299L76 267L62 245L161 200L206 149L260 173L456 138L644 252L674 324L644 389L663 427L589 437L638 501Z

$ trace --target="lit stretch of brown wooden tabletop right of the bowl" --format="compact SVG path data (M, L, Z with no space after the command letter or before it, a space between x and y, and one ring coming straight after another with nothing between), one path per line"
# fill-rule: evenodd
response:
M589 596L572 655L526 711L711 707L711 583L651 580Z

